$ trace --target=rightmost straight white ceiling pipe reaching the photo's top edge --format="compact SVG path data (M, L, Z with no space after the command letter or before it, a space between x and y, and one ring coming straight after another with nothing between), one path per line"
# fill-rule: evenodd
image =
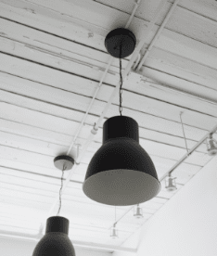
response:
M135 67L135 70L140 70L140 69L141 69L143 63L144 63L145 60L147 59L147 56L148 56L148 54L149 54L151 48L153 47L153 45L155 45L156 41L158 40L158 38L159 38L159 36L160 36L160 32L162 32L162 30L164 29L164 27L165 27L165 25L166 25L168 19L171 18L172 12L173 12L174 8L178 5L179 1L180 1L180 0L175 0L175 1L174 1L174 3L173 3L173 5L172 5L170 11L168 12L166 18L163 20L162 24L160 25L159 31L158 31L158 32L156 33L156 35L154 36L154 38L153 38L151 44L147 47L146 53L145 53L144 57L143 57L142 60L140 61L138 67L137 67L137 68Z

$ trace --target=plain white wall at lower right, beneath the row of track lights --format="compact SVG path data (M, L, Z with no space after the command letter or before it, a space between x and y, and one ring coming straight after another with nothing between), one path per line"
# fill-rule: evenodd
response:
M217 157L149 220L141 235L137 256L217 255Z

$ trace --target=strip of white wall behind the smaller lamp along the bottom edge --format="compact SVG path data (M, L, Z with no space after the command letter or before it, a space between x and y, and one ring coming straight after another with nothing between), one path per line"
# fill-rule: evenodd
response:
M0 237L1 256L32 256L37 242L33 240L20 240ZM87 250L74 246L76 256L110 256L110 252L99 250Z

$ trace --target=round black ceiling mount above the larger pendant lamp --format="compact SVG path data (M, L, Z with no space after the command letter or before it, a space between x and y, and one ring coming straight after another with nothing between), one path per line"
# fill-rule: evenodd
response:
M118 28L108 33L105 46L109 54L114 58L126 58L134 52L136 38L134 33Z

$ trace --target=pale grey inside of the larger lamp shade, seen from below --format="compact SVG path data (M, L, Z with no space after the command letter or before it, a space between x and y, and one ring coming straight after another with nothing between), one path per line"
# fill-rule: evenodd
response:
M135 170L124 170L121 175L118 173L117 176L116 171L119 170L104 171L85 179L83 193L96 202L116 206L140 204L159 194L160 181L152 175ZM129 172L125 173L126 171ZM108 179L108 177L110 178ZM124 184L121 183L122 177L125 178ZM128 186L130 182L136 184L132 191ZM147 187L147 190L144 187Z

